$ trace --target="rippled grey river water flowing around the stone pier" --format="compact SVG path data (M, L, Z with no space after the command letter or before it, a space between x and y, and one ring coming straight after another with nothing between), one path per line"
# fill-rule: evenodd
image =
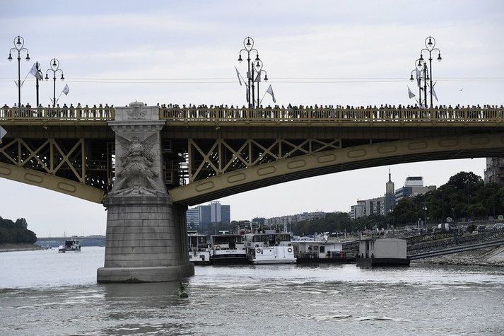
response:
M504 333L504 269L196 267L178 284L96 284L104 248L0 253L0 335Z

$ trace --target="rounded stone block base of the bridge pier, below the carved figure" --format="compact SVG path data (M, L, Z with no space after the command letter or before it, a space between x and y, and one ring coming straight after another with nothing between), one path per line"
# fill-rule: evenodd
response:
M98 282L170 282L194 274L185 207L168 195L108 196L105 267Z

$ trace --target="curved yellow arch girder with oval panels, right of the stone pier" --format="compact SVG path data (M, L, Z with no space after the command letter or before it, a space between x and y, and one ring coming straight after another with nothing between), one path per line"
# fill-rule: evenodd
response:
M279 159L170 190L174 202L194 205L259 187L339 171L397 163L504 156L504 133L387 141Z

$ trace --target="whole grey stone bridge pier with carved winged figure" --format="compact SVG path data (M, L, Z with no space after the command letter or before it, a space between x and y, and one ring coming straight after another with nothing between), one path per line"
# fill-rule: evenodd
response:
M115 182L105 197L105 265L98 282L169 282L194 274L187 253L187 207L162 178L158 107L116 108Z

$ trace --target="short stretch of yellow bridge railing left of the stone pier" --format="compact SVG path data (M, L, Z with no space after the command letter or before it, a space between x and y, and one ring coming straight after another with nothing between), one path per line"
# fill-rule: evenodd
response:
M74 108L0 108L0 120L114 120L115 109L105 107Z

